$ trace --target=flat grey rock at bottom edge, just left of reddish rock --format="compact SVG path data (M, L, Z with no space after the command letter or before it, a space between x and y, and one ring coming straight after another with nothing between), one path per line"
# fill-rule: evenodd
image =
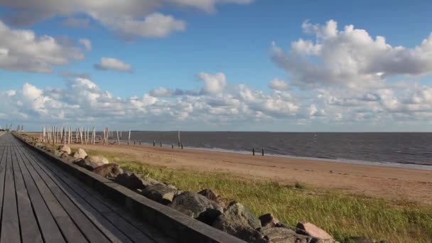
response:
M264 235L264 239L268 242L286 242L286 243L308 243L311 241L311 237L297 234L291 229L281 227L266 227L261 229L261 234Z

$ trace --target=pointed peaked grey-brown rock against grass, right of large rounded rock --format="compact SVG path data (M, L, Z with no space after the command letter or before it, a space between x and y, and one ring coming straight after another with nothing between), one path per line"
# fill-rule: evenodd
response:
M251 227L252 229L261 227L261 222L258 218L255 217L247 207L244 207L244 205L238 202L230 203L225 212L217 217L215 223L213 223L213 227L223 229L225 225L229 224L243 225L244 227Z

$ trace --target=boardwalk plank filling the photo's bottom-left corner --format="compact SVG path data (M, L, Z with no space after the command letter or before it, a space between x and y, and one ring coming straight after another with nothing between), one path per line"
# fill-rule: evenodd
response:
M1 210L1 243L21 242L16 206L15 182L13 180L11 144L6 153L6 175L4 178L4 205Z

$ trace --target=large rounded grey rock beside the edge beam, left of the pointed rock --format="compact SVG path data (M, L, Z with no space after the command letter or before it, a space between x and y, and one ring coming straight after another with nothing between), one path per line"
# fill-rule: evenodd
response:
M212 225L216 217L222 215L223 212L223 208L215 201L191 192L176 196L169 206L185 215L205 222L207 225Z

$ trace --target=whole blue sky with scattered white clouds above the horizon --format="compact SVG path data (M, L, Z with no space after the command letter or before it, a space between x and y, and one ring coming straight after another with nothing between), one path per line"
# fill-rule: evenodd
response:
M430 9L0 0L0 126L432 131Z

